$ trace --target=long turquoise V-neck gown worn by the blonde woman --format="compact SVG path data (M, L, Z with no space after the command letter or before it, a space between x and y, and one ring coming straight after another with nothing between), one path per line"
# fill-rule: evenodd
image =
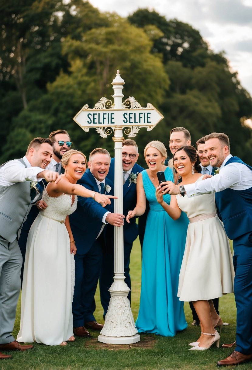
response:
M136 327L139 333L173 337L187 327L184 302L177 297L178 276L189 220L184 212L174 221L157 202L156 189L145 171L143 187L150 203L143 241L142 285ZM166 180L173 181L169 167ZM170 195L164 195L170 203Z

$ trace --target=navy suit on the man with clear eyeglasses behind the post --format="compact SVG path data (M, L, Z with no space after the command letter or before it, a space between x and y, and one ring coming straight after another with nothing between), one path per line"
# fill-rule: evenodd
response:
M138 164L134 164L132 168L133 174L137 172L142 172L143 167ZM109 173L107 175L112 182L115 181L115 159L111 159ZM125 217L128 212L135 208L137 201L136 195L136 184L133 182L130 184L129 178L127 178L125 184L123 185L123 214ZM143 215L144 216L144 215ZM139 222L142 222L145 226L146 218L143 219L143 216L139 218ZM142 220L140 221L140 219ZM130 219L130 223L127 223L124 219L123 226L123 243L124 243L124 272L125 272L125 282L127 286L131 289L130 274L129 274L129 263L130 263L130 252L132 249L133 241L137 238L138 235L138 225L136 224L136 218ZM108 292L110 286L113 283L114 276L114 227L111 225L107 226L106 229L106 250L103 251L103 263L102 263L102 272L100 276L100 294L101 294L101 303L104 309L104 315L107 313L110 293ZM130 300L131 292L129 292L128 298Z

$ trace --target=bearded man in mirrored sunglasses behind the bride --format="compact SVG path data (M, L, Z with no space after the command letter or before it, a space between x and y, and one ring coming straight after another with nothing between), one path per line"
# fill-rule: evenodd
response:
M70 150L72 143L70 141L69 134L66 130L52 131L51 134L49 135L49 139L51 139L51 141L53 142L53 147L52 147L53 154L52 154L51 162L48 164L46 169L49 171L58 172L58 174L60 175L63 170L61 166L62 155L65 152ZM18 239L18 245L20 247L20 250L23 256L23 264L21 268L21 286L23 283L24 259L25 259L26 242L28 238L28 233L39 211L43 211L45 208L47 208L47 203L45 203L42 200L38 201L36 205L37 207L31 208L31 211L29 212L27 219L23 224L23 228L21 230L20 237Z

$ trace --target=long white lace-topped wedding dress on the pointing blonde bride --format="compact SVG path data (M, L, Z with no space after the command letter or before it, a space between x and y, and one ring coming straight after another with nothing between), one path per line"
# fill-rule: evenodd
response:
M54 346L73 335L74 256L64 221L77 207L77 197L52 198L31 226L25 254L18 342Z

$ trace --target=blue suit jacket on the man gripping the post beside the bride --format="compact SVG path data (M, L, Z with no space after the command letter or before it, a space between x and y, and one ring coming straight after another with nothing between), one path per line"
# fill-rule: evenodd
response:
M99 193L98 185L89 169L86 169L82 178L77 181L77 184ZM113 195L113 183L106 178L105 184L111 186L109 195ZM78 196L77 209L72 215L69 215L72 233L76 240L77 254L84 254L89 251L102 228L103 216L107 211L113 212L113 209L113 199L110 205L103 208L101 204L92 198Z

